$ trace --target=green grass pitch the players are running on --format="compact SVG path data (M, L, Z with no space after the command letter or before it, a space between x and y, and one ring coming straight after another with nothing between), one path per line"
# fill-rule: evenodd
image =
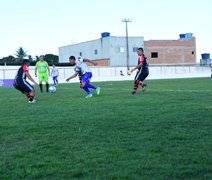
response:
M79 84L36 104L0 88L0 179L212 179L212 80Z

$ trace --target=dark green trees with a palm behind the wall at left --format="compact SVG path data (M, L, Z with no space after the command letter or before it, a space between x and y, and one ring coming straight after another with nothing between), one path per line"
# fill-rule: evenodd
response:
M30 63L34 65L39 60L39 56L35 56L33 59L31 55L27 54L27 51L25 51L24 48L20 47L16 50L16 54L14 56L9 55L0 59L0 65L18 65L21 64L24 59L29 59ZM54 54L45 54L44 59L50 65L59 63L59 57Z

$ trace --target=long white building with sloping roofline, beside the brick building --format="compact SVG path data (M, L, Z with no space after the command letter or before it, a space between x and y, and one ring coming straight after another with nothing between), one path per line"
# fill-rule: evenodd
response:
M129 37L129 65L137 64L137 48L144 47L143 37ZM59 48L59 62L68 62L71 55L98 61L102 66L127 66L126 38L102 36L100 39Z

